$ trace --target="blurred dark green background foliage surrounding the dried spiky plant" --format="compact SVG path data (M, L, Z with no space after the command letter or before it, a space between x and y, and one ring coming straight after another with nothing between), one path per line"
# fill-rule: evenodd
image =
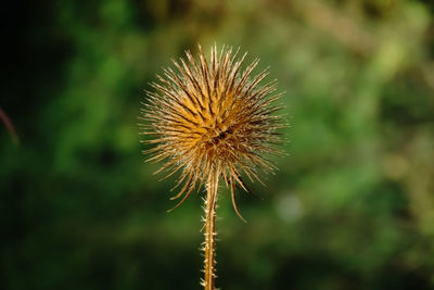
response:
M1 289L201 289L202 196L143 163L142 89L186 49L277 78L288 156L221 187L221 289L434 289L434 2L34 1L1 17ZM247 62L248 62L247 61Z

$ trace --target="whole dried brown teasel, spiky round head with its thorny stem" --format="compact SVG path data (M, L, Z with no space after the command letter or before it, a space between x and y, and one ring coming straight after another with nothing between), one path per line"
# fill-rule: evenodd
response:
M275 113L280 94L272 94L276 81L259 83L267 70L252 77L258 64L255 60L243 72L246 53L237 60L237 51L216 47L209 64L199 46L199 59L187 51L187 60L174 61L177 71L164 70L159 84L152 83L155 92L148 92L149 103L142 108L142 134L155 135L146 143L155 144L146 154L152 162L166 161L157 171L166 177L180 171L177 186L183 184L176 209L194 188L206 185L205 199L205 289L215 289L215 219L217 188L221 177L230 188L232 204L242 218L235 202L235 185L248 191L241 174L252 181L259 180L258 169L272 172L275 166L264 155L281 152L273 143L281 141L277 129L282 127L281 115ZM243 218L242 218L243 219ZM244 219L243 219L244 220Z

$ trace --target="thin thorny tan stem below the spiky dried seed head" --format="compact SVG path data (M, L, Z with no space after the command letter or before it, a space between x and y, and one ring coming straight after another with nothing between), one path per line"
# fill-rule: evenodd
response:
M216 244L216 204L217 204L217 187L218 187L218 169L209 173L206 185L205 200L205 279L203 286L205 290L214 290L215 275L215 244Z

